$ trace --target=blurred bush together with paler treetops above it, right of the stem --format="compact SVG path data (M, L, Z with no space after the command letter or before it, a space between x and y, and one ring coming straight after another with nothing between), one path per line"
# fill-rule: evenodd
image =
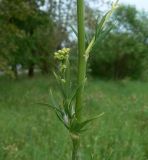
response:
M120 6L108 25L112 31L93 50L92 74L113 79L143 78L148 69L147 13Z

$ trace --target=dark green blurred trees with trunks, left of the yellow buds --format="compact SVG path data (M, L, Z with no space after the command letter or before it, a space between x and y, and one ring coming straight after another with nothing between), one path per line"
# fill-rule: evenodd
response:
M29 68L30 76L35 65L48 72L53 65L51 53L65 39L60 26L40 9L43 4L40 0L0 1L0 54L16 76L18 64Z

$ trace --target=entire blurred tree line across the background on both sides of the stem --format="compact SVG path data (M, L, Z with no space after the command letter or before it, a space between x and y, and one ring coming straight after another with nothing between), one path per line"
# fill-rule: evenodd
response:
M107 1L94 1L100 5ZM18 65L34 75L34 69L50 73L56 65L53 53L71 47L74 70L77 43L71 26L76 28L74 0L1 0L0 1L0 65L15 76ZM95 31L102 12L86 1L87 40ZM108 4L109 5L109 4ZM111 32L98 42L90 57L89 71L103 78L148 79L148 14L133 6L120 6L106 27Z

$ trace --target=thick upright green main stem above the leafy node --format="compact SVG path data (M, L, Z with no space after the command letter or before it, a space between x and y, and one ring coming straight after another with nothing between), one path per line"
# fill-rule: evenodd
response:
M76 97L76 118L78 121L80 121L82 102L83 102L84 83L86 76L84 0L77 0L77 21L78 21L78 86L80 86L80 89Z

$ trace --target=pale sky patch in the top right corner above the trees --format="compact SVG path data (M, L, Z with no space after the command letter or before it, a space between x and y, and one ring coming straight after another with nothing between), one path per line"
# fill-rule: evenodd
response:
M137 9L148 12L148 0L119 0L119 2L135 5Z

